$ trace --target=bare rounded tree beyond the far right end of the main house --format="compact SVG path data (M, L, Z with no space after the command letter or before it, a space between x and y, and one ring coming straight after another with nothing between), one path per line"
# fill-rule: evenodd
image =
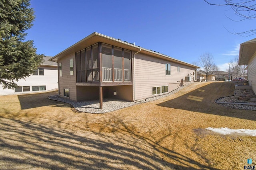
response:
M211 53L205 52L200 55L198 63L206 73L206 82L209 74L212 74L214 71L218 71L218 66L214 63L214 57Z

